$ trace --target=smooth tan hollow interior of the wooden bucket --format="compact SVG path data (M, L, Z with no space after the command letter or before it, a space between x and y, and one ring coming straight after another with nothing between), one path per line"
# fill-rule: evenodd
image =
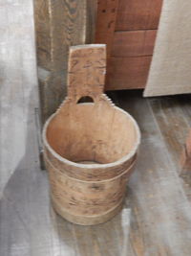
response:
M50 147L63 158L81 163L112 163L138 145L138 128L117 107L80 104L63 107L46 129Z

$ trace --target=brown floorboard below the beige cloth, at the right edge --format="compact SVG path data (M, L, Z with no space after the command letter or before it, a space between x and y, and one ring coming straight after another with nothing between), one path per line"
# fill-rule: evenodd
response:
M184 158L187 148L185 139L190 130L190 96L166 97L150 101L159 129L162 133L164 143L171 154L173 162L177 166L177 173L184 182L184 191L191 199L191 175L189 170L189 157ZM181 107L180 107L181 106ZM188 111L187 111L188 110ZM187 148L189 152L189 147ZM189 155L189 153L188 153Z

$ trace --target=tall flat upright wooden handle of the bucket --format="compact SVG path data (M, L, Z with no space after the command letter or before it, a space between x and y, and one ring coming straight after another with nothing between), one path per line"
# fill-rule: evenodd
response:
M76 103L81 97L94 101L103 93L106 72L106 46L72 46L69 52L68 96Z

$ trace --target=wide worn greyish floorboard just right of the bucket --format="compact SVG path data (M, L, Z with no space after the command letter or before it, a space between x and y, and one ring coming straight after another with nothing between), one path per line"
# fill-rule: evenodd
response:
M156 122L150 101L130 95L129 92L120 93L119 102L138 120L143 136L139 155L141 159L138 159L137 167L139 172L132 176L129 184L132 202L137 201L137 207L134 208L137 220L135 230L138 228L138 233L142 235L130 233L132 243L138 255L149 255L151 251L154 255L189 255L187 235L190 233L191 219L187 210L190 208L190 198L178 174L180 165L166 148L163 131ZM181 106L177 107L179 109ZM180 129L177 129L177 138L178 134L181 136ZM146 212L143 209L147 209ZM178 235L181 232L187 235L182 238Z

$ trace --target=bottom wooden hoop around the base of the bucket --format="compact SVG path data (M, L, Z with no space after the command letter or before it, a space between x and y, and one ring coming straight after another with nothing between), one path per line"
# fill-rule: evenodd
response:
M81 216L81 215L74 215L67 211L64 207L62 207L59 203L56 202L55 199L52 198L53 209L55 212L64 218L67 221L70 221L74 224L78 225L96 225L106 221L109 221L113 217L117 215L117 213L121 210L123 205L123 200L120 201L119 204L115 208L110 211L105 212L102 215L96 216Z

